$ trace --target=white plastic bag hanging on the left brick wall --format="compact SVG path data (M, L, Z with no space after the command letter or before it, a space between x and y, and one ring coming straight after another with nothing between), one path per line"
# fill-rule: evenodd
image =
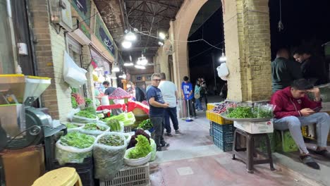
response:
M79 88L81 85L84 85L87 81L86 73L87 70L77 66L71 56L64 51L63 77L68 85L71 85L71 87L74 88Z

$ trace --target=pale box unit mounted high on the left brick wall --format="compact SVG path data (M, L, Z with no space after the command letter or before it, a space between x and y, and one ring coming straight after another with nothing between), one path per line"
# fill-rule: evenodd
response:
M71 4L68 0L50 0L51 22L60 25L65 30L73 30Z

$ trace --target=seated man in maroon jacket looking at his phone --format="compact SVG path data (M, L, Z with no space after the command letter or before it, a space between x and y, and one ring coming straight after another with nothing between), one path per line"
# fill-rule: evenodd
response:
M313 101L308 99L307 92L314 94L315 99ZM271 96L271 104L276 105L274 128L276 130L290 130L291 136L300 150L300 160L315 169L319 169L319 165L307 151L302 138L301 127L317 124L317 149L314 153L330 159L330 153L326 150L330 117L328 113L317 113L322 108L321 101L319 89L314 88L305 79L295 80L291 87L281 89Z

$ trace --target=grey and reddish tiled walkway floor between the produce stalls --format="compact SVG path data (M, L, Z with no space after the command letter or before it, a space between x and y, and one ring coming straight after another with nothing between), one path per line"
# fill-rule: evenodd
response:
M171 146L150 164L151 185L308 185L282 171L270 171L266 164L247 173L244 163L212 145L209 120L197 114L193 122L179 121L181 135L165 137Z

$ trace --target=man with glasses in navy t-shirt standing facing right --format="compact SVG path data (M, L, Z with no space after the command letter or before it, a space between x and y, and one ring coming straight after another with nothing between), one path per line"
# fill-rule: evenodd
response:
M152 86L147 90L147 100L149 102L149 118L154 125L154 142L157 145L157 151L161 151L162 147L169 147L164 141L164 111L169 107L164 102L161 90L158 88L161 77L158 73L152 75Z

